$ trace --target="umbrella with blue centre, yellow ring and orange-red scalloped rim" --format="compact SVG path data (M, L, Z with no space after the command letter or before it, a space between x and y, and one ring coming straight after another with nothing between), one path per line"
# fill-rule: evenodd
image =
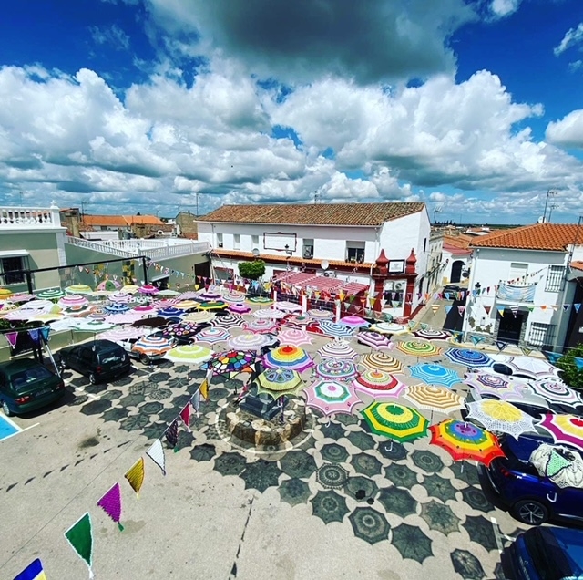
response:
M488 466L496 457L505 457L496 435L472 423L446 419L429 430L431 442L445 449L454 461L473 460Z

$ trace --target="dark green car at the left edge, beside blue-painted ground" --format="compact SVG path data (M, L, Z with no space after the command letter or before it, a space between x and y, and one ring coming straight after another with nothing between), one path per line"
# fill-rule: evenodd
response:
M46 407L64 394L63 379L32 358L0 364L0 400L7 417Z

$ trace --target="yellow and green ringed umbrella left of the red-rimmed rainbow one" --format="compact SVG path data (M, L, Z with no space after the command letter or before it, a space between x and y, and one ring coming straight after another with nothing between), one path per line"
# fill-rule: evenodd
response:
M396 403L373 402L363 410L363 417L373 433L400 442L423 437L427 419L417 410Z

